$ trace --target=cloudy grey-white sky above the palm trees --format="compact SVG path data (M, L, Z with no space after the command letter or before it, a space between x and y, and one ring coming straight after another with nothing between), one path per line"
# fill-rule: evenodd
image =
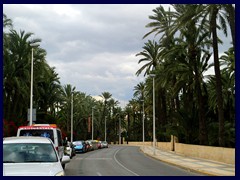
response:
M143 77L136 71L145 25L156 4L3 5L14 29L34 33L56 67L61 85L97 96L110 92L127 103ZM169 5L164 5L166 8ZM230 37L230 36L229 36ZM124 103L123 103L124 104Z

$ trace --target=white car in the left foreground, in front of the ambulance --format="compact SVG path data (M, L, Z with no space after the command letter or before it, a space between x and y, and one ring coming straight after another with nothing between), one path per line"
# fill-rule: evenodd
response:
M62 161L70 161L63 156ZM64 176L53 142L45 137L3 139L3 176Z

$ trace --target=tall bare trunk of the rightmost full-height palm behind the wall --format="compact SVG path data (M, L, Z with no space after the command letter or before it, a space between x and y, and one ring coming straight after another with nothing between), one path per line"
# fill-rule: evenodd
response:
M220 73L220 64L218 58L218 37L217 37L217 17L218 9L213 8L212 18L211 18L211 32L212 32L212 42L213 42L213 55L214 55L214 70L216 76L216 91L217 91L217 107L218 107L218 122L219 122L219 146L224 146L224 113L223 113L223 98L222 98L222 82Z

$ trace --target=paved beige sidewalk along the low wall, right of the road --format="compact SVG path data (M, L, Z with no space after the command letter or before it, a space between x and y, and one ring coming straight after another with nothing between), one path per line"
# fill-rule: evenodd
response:
M225 164L207 159L186 157L171 151L155 149L152 146L141 146L140 150L148 156L160 161L179 166L191 171L200 172L210 176L235 176L235 165Z

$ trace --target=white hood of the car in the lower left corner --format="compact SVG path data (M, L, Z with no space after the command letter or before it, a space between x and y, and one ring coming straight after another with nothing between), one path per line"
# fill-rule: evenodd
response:
M61 163L4 163L3 176L54 176L63 171Z

